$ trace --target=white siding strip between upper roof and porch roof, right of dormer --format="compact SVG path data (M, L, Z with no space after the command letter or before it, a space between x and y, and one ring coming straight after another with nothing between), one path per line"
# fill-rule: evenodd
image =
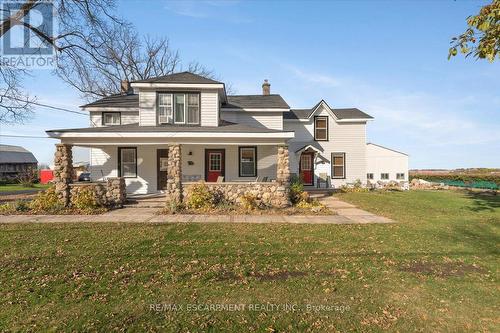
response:
M283 130L282 112L223 111L221 117L233 123Z

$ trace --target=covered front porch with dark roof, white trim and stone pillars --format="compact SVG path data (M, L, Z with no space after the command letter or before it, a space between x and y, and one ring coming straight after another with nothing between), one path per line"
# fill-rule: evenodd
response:
M242 188L258 196L288 188L287 142L293 132L225 124L124 125L47 133L64 146L90 148L91 179L123 178L127 194L164 192L167 200L182 201L184 185L201 180L224 184L218 191L231 195Z

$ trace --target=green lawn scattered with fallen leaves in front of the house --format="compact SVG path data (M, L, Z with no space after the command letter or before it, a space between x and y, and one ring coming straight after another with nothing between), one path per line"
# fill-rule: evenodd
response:
M341 197L400 223L0 225L0 331L498 331L500 197Z

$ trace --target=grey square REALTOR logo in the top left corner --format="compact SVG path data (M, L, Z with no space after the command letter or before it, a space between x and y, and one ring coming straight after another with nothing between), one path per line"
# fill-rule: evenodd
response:
M25 1L2 2L2 23L10 21L10 24L0 37L0 65L24 69L53 68L56 52L45 38L56 36L54 3L43 0L23 13L25 5Z

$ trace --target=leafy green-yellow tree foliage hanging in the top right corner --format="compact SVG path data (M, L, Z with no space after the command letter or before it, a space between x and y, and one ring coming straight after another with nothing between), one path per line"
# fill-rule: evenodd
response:
M500 0L482 7L478 15L469 16L467 25L463 34L452 38L448 59L456 56L458 50L466 57L472 54L490 62L500 57Z

